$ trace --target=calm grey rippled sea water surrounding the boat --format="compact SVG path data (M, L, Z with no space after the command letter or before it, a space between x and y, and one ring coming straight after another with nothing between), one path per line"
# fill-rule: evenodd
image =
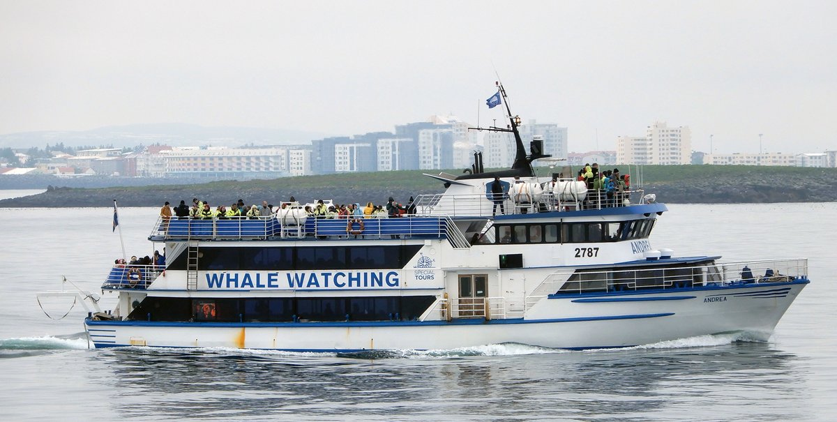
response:
M669 208L655 248L810 259L813 281L770 342L697 337L594 352L502 344L362 358L88 350L81 307L54 321L35 292L61 288L63 276L98 291L121 256L112 208L3 209L0 420L837 420L837 203ZM151 255L156 218L157 208L120 209L128 255ZM61 317L70 305L44 308Z

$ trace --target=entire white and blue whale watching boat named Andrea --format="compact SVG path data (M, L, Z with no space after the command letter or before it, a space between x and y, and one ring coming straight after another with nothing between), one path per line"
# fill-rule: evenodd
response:
M459 176L426 174L444 193L386 208L290 198L227 210L195 198L154 224L161 254L116 260L101 286L111 309L81 289L39 301L74 296L95 347L587 349L767 340L808 285L806 259L721 262L652 246L668 208L644 192L641 168L557 166L537 136L526 151L501 84L486 104L508 124L470 129L513 136L511 168L486 172L476 152Z

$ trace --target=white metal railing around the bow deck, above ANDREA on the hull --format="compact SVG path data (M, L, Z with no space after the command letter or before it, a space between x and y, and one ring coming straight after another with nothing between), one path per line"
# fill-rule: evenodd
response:
M808 280L808 260L756 260L713 265L637 267L630 270L557 272L526 296L526 310L547 296L591 292L686 290Z

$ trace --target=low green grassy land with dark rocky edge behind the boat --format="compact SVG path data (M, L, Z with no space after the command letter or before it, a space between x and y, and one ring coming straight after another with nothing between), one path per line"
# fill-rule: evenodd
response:
M428 171L430 172L430 171ZM0 200L0 208L107 207L177 205L200 198L211 204L279 203L294 196L300 202L319 198L336 203L407 203L410 196L441 193L442 183L422 172L332 174L274 180L165 184L111 188L50 187L47 192ZM435 172L434 172L435 173ZM837 201L837 169L752 166L647 166L634 174L644 179L645 193L664 203L785 203ZM168 181L172 183L172 181Z

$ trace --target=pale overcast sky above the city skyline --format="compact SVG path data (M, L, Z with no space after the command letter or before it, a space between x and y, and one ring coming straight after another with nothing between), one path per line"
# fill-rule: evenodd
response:
M570 151L653 121L693 149L837 149L837 2L0 0L0 133L186 122L475 124L495 71ZM39 146L43 147L43 146Z

